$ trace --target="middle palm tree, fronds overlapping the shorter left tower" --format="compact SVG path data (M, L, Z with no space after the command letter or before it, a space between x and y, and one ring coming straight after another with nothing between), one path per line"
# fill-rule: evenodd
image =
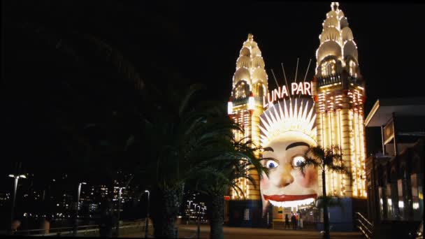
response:
M259 164L250 140L238 141L233 136L226 136L222 145L215 145L215 149L217 154L212 157L208 167L199 171L196 189L210 198L207 201L210 238L220 239L224 238L224 195L233 188L245 196L243 190L238 187L237 180L246 178L254 184L252 177L246 173L247 168L257 170L258 175L261 175L263 170L266 171L266 168Z

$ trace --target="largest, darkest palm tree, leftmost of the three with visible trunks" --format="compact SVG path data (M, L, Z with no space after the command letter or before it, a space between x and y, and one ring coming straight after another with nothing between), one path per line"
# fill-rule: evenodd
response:
M154 101L154 110L143 117L145 167L139 174L150 182L157 237L175 237L175 218L185 183L218 160L214 156L222 153L223 136L236 129L219 115L217 103L194 101L200 89L201 85L192 85L185 91L169 90L166 94L153 87L150 90L158 100Z

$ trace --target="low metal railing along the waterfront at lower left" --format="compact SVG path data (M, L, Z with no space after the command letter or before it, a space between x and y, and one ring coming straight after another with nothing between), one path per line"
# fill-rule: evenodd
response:
M131 232L131 229L137 229L136 231L145 231L145 219L138 220L136 222L125 222L120 224L120 234L125 234ZM149 224L148 227L151 227L152 224ZM20 230L13 232L12 235L16 236L72 236L73 227L57 227L52 229L34 229L34 230ZM116 225L113 226L113 231L116 231ZM136 232L134 231L134 232ZM99 225L88 225L88 226L78 226L77 231L78 236L98 236L99 235Z

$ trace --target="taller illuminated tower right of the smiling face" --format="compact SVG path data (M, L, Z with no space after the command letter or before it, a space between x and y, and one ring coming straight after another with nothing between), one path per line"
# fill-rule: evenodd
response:
M352 31L337 2L331 3L319 39L313 80L317 143L322 147L339 145L343 164L352 173L351 182L345 175L328 173L327 194L366 198L364 81ZM319 177L319 185L321 181Z

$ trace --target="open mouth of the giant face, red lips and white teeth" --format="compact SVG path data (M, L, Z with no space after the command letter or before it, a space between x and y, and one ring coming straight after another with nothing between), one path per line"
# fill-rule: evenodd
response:
M298 205L310 204L315 201L317 194L305 194L305 195L263 195L266 201L269 201L271 205L275 207L295 207Z

